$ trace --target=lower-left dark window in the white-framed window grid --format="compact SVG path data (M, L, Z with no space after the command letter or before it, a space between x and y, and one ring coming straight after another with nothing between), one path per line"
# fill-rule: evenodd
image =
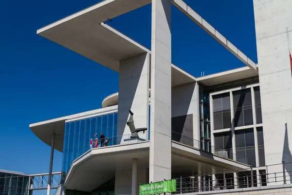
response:
M214 134L215 154L233 159L231 132Z

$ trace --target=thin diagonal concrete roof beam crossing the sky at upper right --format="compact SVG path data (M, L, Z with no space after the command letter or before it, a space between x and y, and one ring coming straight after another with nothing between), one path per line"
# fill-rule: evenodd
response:
M189 19L198 24L204 31L206 31L211 37L217 40L223 47L235 55L245 65L250 67L258 74L256 69L256 63L249 59L242 51L240 51L234 44L226 39L222 34L218 32L211 24L204 20L197 12L195 12L190 6L188 6L183 0L171 0L172 4L183 12Z

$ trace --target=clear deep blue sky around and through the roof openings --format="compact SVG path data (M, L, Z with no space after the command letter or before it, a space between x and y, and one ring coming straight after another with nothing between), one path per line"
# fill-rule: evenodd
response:
M36 34L101 0L0 0L0 169L45 173L50 147L29 124L101 107L118 74ZM257 62L253 0L185 0ZM151 4L113 19L150 48ZM172 9L172 62L194 76L244 66L178 9ZM106 81L106 82L105 82ZM53 171L61 170L55 151Z

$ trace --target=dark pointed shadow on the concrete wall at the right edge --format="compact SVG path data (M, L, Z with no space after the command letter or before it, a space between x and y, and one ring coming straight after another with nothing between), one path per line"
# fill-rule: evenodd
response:
M282 161L285 163L285 169L286 169L286 178L289 177L290 181L292 181L292 155L291 151L289 149L289 137L288 137L288 127L287 122L285 123L285 137L284 137L284 145L283 145L283 154L282 154Z

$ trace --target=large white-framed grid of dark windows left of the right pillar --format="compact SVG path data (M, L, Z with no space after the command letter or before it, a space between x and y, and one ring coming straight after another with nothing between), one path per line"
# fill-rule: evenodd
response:
M253 84L254 81L255 78L245 83ZM234 84L230 85L234 86ZM225 89L226 85L221 87L221 90L223 88ZM212 96L215 152L227 151L230 153L228 157L232 158L231 153L234 151L236 160L239 162L254 167L265 166L263 128L256 125L262 123L260 88L259 86L248 88L245 86L243 88L242 90L231 90L231 92ZM216 89L219 89L219 87L216 87ZM254 90L254 96L252 96L252 90ZM230 95L232 95L233 101ZM253 102L255 105L253 105ZM230 105L233 105L234 109L233 118L231 118ZM253 106L255 108L254 112ZM256 116L255 121L253 115ZM232 124L234 124L233 128L231 128ZM245 126L248 127L244 128ZM216 130L221 130L223 133L216 133ZM235 136L235 148L232 147L232 131L234 131ZM257 134L257 140L255 140L255 134ZM256 142L258 143L257 151ZM256 154L258 154L258 164L256 164Z

